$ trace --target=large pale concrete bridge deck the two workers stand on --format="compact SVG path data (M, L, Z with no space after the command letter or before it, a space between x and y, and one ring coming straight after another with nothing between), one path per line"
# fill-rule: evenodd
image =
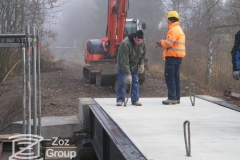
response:
M166 98L141 98L143 106L117 107L115 98L94 99L150 160L239 160L240 112L189 97L162 105ZM190 121L191 157L186 157L183 123Z

